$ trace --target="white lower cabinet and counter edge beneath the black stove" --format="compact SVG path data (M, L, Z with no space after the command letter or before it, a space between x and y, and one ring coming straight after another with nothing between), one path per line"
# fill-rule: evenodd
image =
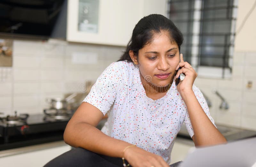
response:
M70 150L64 141L38 144L0 151L1 167L44 166L53 158Z

